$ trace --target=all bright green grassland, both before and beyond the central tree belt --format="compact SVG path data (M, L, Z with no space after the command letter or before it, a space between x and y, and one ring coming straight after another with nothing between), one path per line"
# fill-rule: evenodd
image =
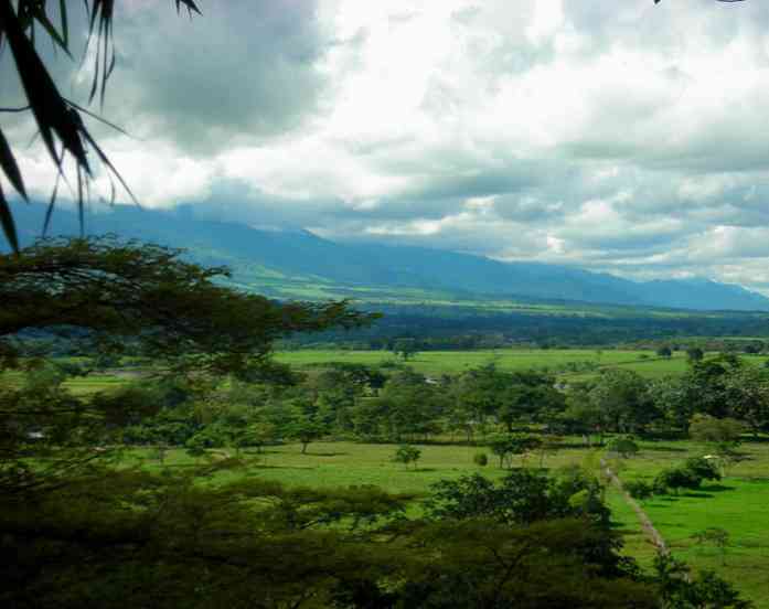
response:
M402 359L386 351L303 350L278 353L276 359L297 370L317 371L332 362L357 363L370 366L404 364ZM744 356L755 365L762 365L767 356ZM672 357L659 357L653 351L641 350L488 350L420 352L405 365L430 376L458 374L466 370L493 363L503 371L548 370L559 378L583 378L604 368L632 370L645 377L675 375L685 372L687 362L683 352ZM569 371L569 364L589 363L590 370ZM108 391L130 382L132 374L113 371L108 374L76 377L67 386L81 395ZM6 375L3 381L13 381ZM421 458L416 469L395 463L396 447L388 444L359 444L351 441L317 441L306 455L301 446L286 444L267 448L263 453L248 453L252 463L246 469L222 473L232 477L259 477L293 487L348 487L374 484L389 492L409 495L410 511L418 513L419 499L429 493L439 480L457 479L464 474L483 473L491 478L504 474L489 455L487 467L473 463L473 455L485 451L482 447L451 444L418 446ZM662 469L683 462L688 457L708 452L707 447L692 441L641 441L640 452L630 459L612 463L623 481L647 480ZM679 495L660 495L640 502L654 526L662 534L676 557L694 568L714 569L756 602L769 609L769 441L746 441L740 446L745 460L731 464L724 480L705 483L697 491ZM165 464L184 468L195 461L183 449L169 451ZM557 470L568 464L583 464L600 473L599 453L579 446L574 439L555 453L533 453L515 467L544 467ZM152 451L131 450L127 464L140 463L158 468ZM636 513L612 487L607 488L617 528L623 535L626 553L634 556L644 567L651 566L654 548L641 530ZM698 543L695 535L709 527L728 533L728 544L722 553L712 544Z

